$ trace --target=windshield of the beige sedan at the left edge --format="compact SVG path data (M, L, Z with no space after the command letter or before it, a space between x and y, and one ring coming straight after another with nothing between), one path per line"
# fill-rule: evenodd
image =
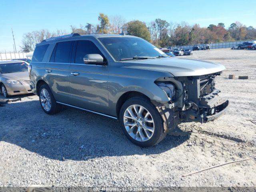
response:
M2 74L26 71L28 71L28 64L24 62L0 64L0 72Z

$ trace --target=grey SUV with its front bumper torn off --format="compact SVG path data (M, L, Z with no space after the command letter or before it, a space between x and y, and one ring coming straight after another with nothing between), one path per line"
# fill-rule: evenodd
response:
M224 69L167 56L134 36L71 34L37 44L29 73L47 114L66 105L114 118L131 142L148 147L180 122L225 112L214 81Z

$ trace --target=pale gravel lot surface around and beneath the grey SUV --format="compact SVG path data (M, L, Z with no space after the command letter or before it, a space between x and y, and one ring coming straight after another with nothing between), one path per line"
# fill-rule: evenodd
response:
M49 116L38 96L25 95L0 107L0 186L255 186L256 124L248 119L256 119L256 51L202 50L180 58L226 66L216 82L230 100L226 114L180 124L187 136L140 148L115 120L67 107ZM243 158L250 159L182 177Z

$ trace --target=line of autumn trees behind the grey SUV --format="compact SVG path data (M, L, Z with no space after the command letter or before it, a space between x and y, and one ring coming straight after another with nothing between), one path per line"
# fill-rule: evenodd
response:
M246 27L240 22L234 22L226 27L224 23L210 24L207 28L199 24L190 25L186 22L172 23L157 18L145 23L139 20L126 22L123 16L108 17L100 13L99 24L86 23L70 26L70 31L42 29L24 34L21 49L24 52L34 50L35 45L44 39L72 33L103 33L125 34L141 37L157 47L180 46L188 44L206 44L244 39L256 39L256 28Z

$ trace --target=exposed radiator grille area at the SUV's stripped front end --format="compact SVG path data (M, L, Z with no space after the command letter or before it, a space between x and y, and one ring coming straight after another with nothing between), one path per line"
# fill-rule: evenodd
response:
M212 76L200 78L200 97L210 94L215 89L215 80Z

